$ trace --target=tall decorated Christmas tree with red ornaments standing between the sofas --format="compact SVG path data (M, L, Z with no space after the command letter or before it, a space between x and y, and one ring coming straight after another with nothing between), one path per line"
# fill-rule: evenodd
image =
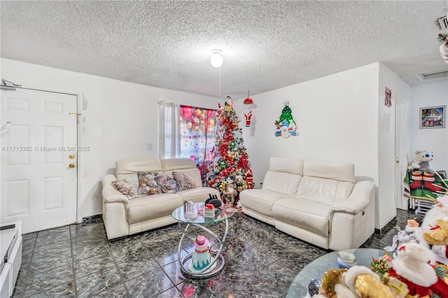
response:
M221 193L221 199L227 206L235 207L239 192L252 188L253 183L243 134L230 97L225 101L224 108L219 105L216 125L215 158L207 183Z

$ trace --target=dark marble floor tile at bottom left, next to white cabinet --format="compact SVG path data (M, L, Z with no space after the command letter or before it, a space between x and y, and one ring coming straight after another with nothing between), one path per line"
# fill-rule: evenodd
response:
M73 293L73 268L62 266L27 276L24 297L37 297L42 293L62 295Z

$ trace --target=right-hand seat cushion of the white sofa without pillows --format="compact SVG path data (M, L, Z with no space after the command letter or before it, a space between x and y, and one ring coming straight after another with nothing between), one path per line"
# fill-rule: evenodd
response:
M318 201L289 197L276 201L272 211L275 220L327 237L330 207L330 205Z

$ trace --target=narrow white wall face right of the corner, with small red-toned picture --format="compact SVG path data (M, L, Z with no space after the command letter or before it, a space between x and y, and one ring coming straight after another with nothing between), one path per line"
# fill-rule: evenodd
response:
M384 104L386 87L392 92L392 105ZM396 215L395 187L400 187L402 173L395 179L395 102L410 100L410 87L384 64L379 64L378 85L378 195L376 227L384 227ZM399 171L399 170L397 170Z

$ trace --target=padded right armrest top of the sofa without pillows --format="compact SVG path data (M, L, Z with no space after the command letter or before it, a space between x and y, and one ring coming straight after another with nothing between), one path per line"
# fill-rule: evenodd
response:
M367 208L373 199L373 187L374 183L371 181L358 181L345 201L341 201L330 208L328 214L330 222L335 212L355 215Z

